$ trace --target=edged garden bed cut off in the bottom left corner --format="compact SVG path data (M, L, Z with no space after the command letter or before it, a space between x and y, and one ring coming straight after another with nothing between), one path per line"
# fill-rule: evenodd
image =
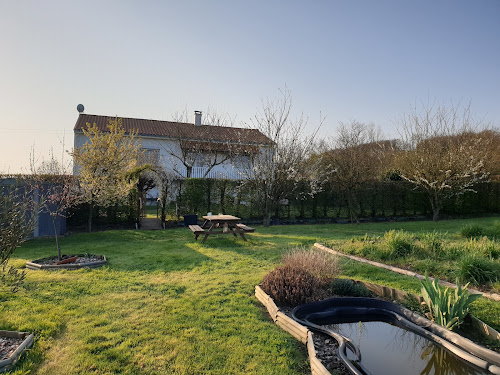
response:
M0 372L11 370L24 349L31 345L33 345L32 333L0 331Z

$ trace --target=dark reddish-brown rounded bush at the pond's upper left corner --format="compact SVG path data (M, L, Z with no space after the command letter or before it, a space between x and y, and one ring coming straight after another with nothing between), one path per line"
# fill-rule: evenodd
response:
M262 289L277 302L291 306L324 297L325 282L307 271L281 266L264 276Z

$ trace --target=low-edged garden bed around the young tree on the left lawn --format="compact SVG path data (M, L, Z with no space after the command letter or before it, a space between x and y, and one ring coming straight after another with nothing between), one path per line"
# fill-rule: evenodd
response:
M78 270L80 268L95 268L106 264L104 255L63 255L62 261L56 256L33 260L26 263L31 270Z

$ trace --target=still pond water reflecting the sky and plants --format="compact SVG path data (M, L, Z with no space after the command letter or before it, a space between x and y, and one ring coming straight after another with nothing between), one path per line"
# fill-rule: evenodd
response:
M361 364L372 375L488 374L426 338L388 323L342 323L327 327L351 339L361 353ZM350 351L348 357L355 359Z

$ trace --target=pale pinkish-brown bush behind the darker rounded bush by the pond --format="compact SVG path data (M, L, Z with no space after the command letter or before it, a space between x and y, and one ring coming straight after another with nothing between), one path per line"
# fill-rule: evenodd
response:
M283 256L283 264L324 279L333 279L340 272L337 256L315 249L292 249Z

